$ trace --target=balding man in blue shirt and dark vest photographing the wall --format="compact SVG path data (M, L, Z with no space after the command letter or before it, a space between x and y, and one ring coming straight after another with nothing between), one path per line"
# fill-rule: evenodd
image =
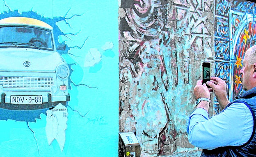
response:
M206 82L209 89L201 80L194 87L197 108L187 118L187 134L191 144L203 149L202 157L256 156L256 45L246 51L240 73L245 92L231 103L218 77ZM209 119L210 92L222 111Z

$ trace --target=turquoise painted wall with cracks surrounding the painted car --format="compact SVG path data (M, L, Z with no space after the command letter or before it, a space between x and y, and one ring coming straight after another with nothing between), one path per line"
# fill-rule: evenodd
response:
M21 111L20 117L0 120L0 156L117 157L118 2L6 0L0 13L1 19L25 16L51 25L55 42L67 47L61 54L71 69L63 150L56 140L47 142L45 113L22 121Z

